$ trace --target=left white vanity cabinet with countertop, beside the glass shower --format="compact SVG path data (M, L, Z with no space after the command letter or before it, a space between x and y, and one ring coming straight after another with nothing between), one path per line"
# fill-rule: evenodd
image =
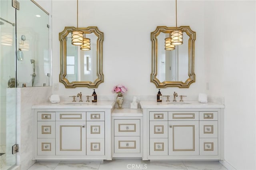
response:
M33 106L35 160L111 160L115 102Z

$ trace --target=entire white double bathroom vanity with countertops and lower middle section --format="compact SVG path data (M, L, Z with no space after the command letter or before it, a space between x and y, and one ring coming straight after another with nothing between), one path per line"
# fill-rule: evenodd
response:
M61 102L32 107L35 160L222 160L224 105L140 101Z

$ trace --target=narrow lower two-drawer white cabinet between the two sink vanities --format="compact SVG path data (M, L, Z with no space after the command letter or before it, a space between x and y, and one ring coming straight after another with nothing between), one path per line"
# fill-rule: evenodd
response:
M142 111L114 109L112 112L112 156L142 157Z

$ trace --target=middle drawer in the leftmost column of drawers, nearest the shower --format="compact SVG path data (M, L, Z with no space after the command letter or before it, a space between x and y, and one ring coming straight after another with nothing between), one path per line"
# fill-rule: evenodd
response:
M38 121L37 138L55 138L55 122Z

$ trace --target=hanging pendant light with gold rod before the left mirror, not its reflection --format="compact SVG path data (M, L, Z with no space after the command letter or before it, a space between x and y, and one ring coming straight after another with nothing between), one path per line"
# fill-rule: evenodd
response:
M76 30L72 31L71 43L73 45L82 45L84 43L84 32L78 31L78 0L76 1Z

